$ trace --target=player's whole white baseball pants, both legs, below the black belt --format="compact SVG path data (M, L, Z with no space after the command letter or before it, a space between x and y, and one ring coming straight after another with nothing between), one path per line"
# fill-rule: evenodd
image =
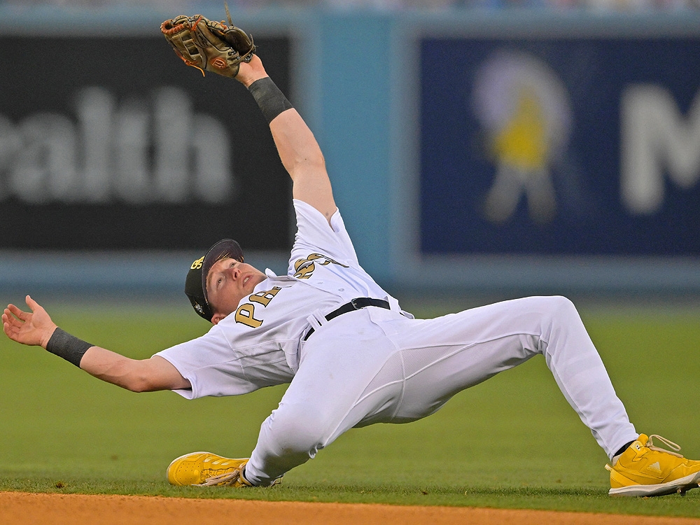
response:
M433 414L452 395L542 354L556 384L608 456L638 434L572 302L526 297L435 319L367 307L304 343L279 407L246 466L269 484L349 428Z

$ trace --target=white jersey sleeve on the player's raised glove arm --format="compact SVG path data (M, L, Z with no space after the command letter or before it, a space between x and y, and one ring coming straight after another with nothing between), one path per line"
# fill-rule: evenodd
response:
M330 218L330 225L325 216L311 204L295 199L294 210L297 216L297 234L292 248L292 259L300 252L318 252L339 262L358 265L355 248L339 210Z

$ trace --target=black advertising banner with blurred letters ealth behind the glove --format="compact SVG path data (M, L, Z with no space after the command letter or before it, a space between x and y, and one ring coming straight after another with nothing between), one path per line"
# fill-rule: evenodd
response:
M288 248L290 181L237 81L160 33L1 38L0 248ZM255 43L289 93L289 39Z

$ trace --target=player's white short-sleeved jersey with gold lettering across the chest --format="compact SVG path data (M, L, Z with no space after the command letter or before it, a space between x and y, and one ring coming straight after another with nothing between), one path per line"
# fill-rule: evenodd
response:
M239 395L288 383L298 370L304 335L356 297L384 299L400 311L358 264L339 211L329 226L309 204L294 200L294 208L297 235L287 275L267 269L267 279L207 334L155 354L190 381L191 389L176 390L183 397Z

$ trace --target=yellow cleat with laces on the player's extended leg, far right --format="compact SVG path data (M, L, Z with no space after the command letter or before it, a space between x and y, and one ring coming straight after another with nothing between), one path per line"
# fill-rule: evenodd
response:
M667 447L680 450L672 441L660 435L647 437L640 434L619 456L615 465L605 465L610 470L611 496L664 496L685 494L700 483L700 461L686 459L676 452L654 447L656 437Z

